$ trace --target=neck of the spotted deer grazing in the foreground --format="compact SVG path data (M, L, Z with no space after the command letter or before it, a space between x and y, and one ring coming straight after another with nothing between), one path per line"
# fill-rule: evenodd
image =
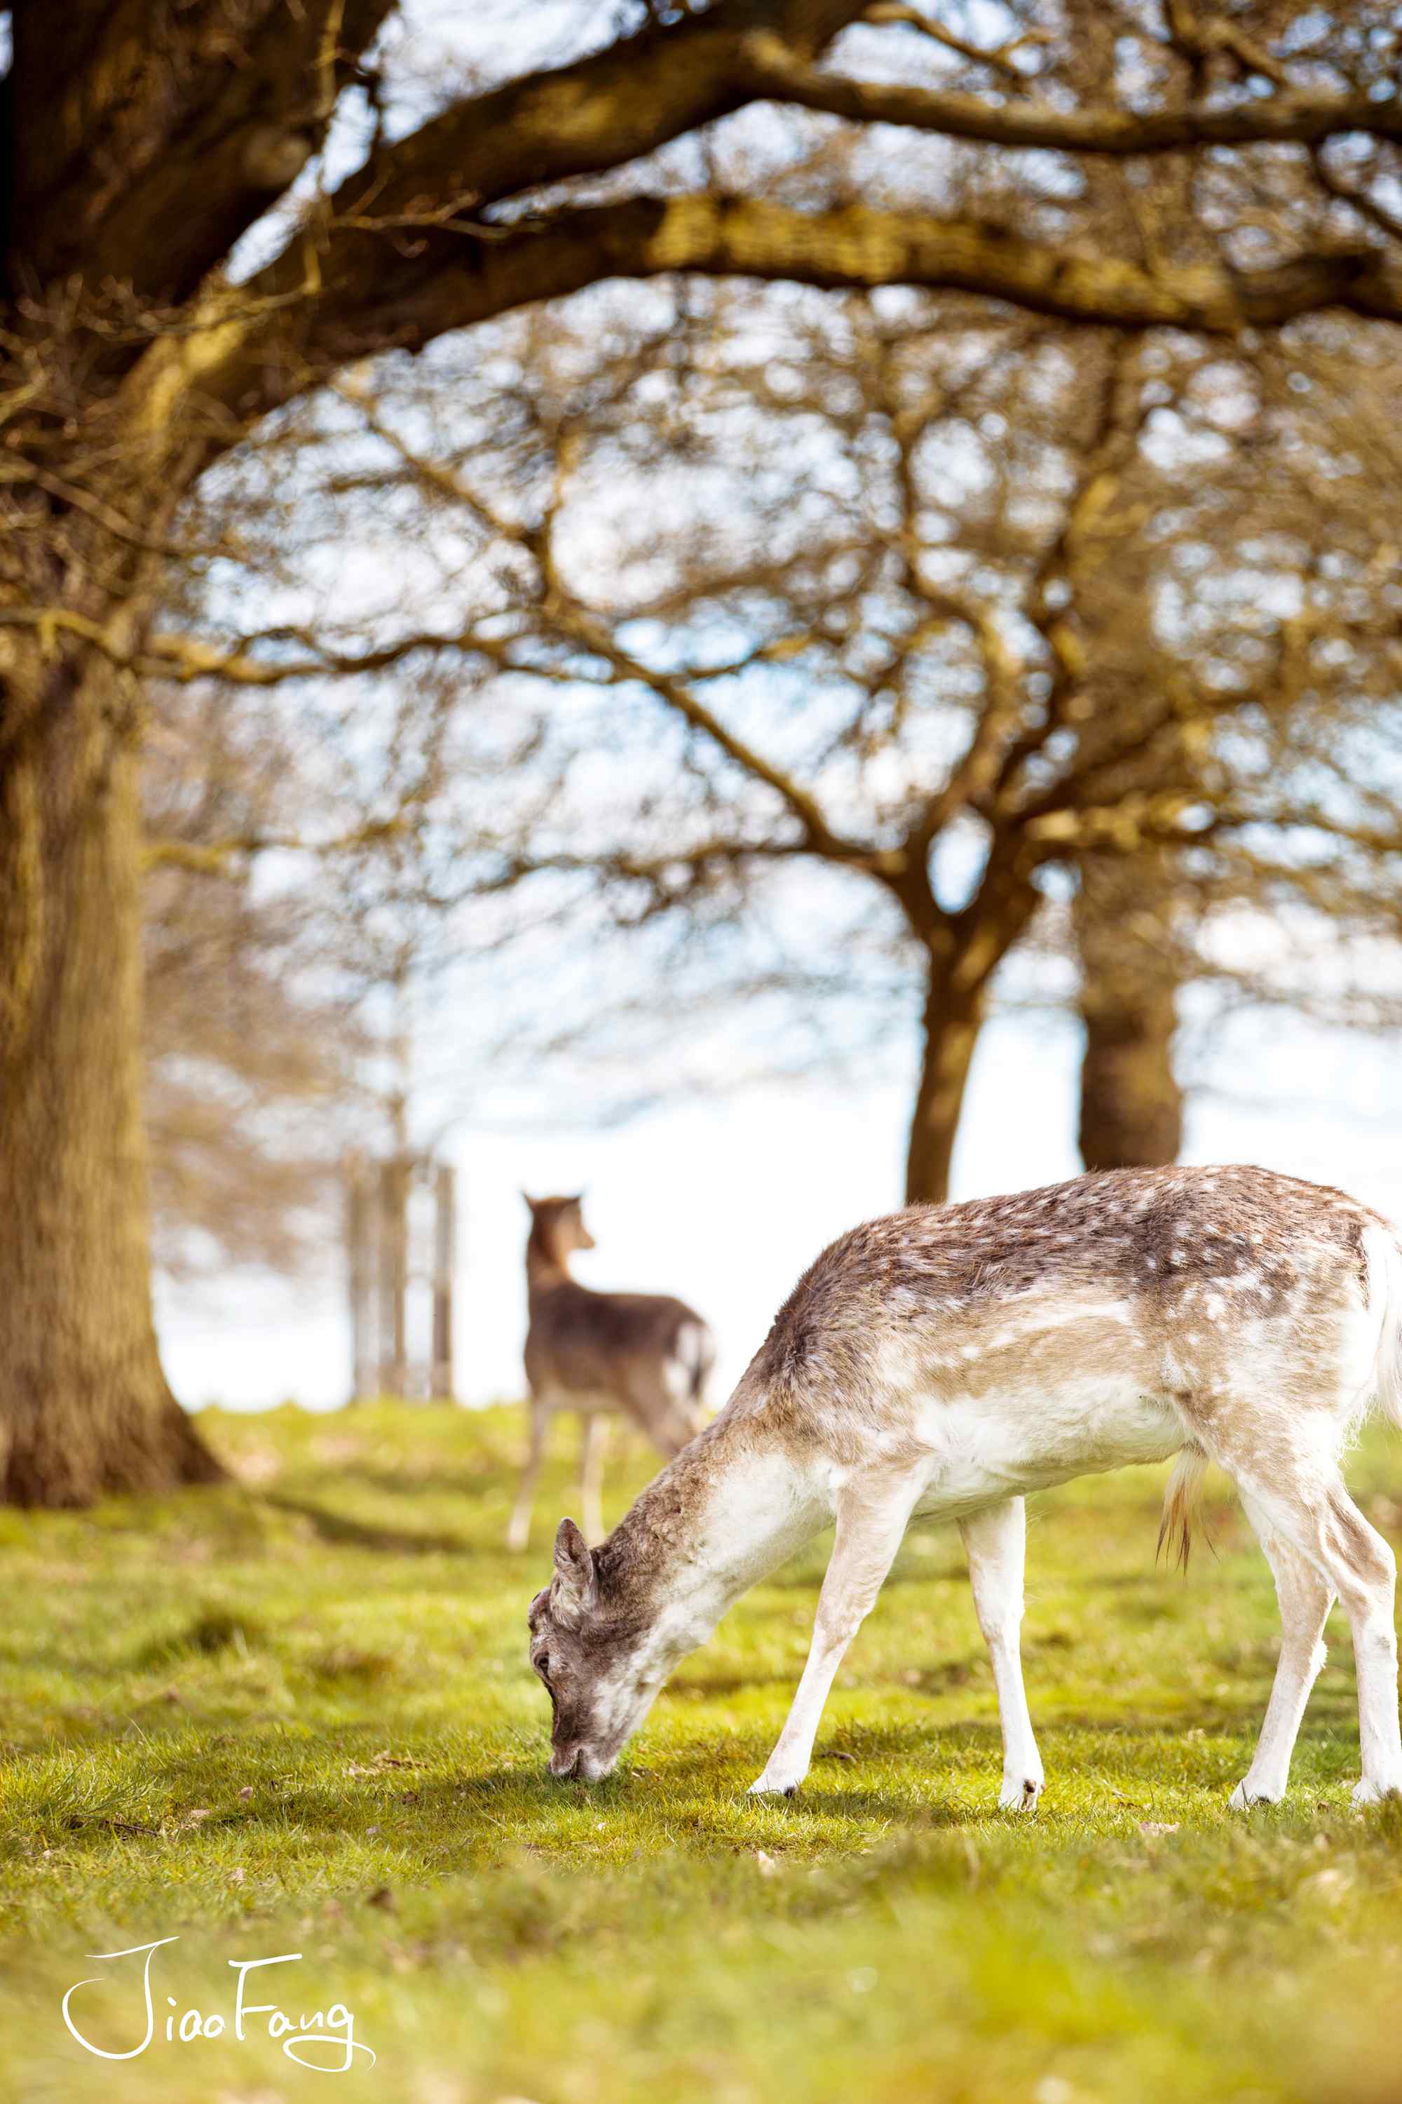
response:
M643 1628L645 1677L666 1677L832 1517L811 1471L731 1410L681 1450L599 1549L610 1614Z

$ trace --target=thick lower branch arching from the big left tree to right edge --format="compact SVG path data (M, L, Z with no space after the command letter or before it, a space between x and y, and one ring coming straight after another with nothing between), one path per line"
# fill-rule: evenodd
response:
M454 240L454 261L389 297L366 278L359 301L277 309L227 322L214 295L204 330L151 345L139 372L139 429L168 429L183 398L214 412L210 457L250 421L330 370L385 349L420 349L513 307L576 292L601 278L668 271L788 278L816 286L919 284L975 292L1032 313L1112 328L1188 328L1238 335L1345 305L1402 320L1402 284L1379 248L1341 246L1259 271L1192 265L1150 271L1106 255L1028 240L977 219L933 219L845 206L801 213L757 198L671 196L563 210L507 240ZM343 286L343 290L347 290Z

